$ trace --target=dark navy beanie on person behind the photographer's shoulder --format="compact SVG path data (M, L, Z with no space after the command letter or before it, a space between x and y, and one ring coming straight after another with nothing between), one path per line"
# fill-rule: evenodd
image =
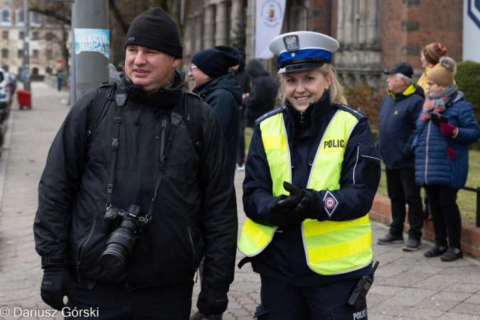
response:
M216 46L193 55L192 63L210 78L218 78L228 73L228 69L238 65L240 55L230 46Z

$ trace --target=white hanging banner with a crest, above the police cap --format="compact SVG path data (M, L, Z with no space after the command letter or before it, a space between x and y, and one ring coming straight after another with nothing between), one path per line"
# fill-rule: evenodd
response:
M270 59L268 45L282 32L286 0L257 0L255 10L255 58Z

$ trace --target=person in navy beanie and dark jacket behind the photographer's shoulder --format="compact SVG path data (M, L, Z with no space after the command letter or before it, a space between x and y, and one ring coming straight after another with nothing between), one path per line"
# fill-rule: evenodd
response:
M216 46L202 50L192 57L188 76L193 90L203 97L217 114L222 125L230 156L230 173L235 175L238 153L240 118L238 106L242 102L242 88L228 70L238 65L238 51L230 46Z

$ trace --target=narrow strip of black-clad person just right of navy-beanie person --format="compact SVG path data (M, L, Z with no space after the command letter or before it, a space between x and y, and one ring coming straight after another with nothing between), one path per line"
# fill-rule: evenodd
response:
M238 160L237 169L245 170L245 105L243 100L250 93L250 75L245 70L245 59L240 55L240 63L235 65L233 73L237 82L242 87L242 103L240 104L240 139L238 140Z

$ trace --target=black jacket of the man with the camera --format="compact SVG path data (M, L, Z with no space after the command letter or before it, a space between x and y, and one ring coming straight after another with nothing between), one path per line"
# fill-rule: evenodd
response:
M141 206L154 196L162 151L170 130L169 110L183 101L183 80L146 96L124 81L129 97L122 108L114 169L112 206ZM176 128L153 213L121 272L99 263L110 236L102 233L112 160L116 105L112 101L90 140L87 115L95 90L80 97L50 148L38 187L33 226L42 265L69 265L80 279L125 282L129 289L188 283L205 252L203 278L217 291L233 281L238 235L237 208L222 128L203 103L203 151L197 154L184 121ZM181 109L183 110L183 109Z

